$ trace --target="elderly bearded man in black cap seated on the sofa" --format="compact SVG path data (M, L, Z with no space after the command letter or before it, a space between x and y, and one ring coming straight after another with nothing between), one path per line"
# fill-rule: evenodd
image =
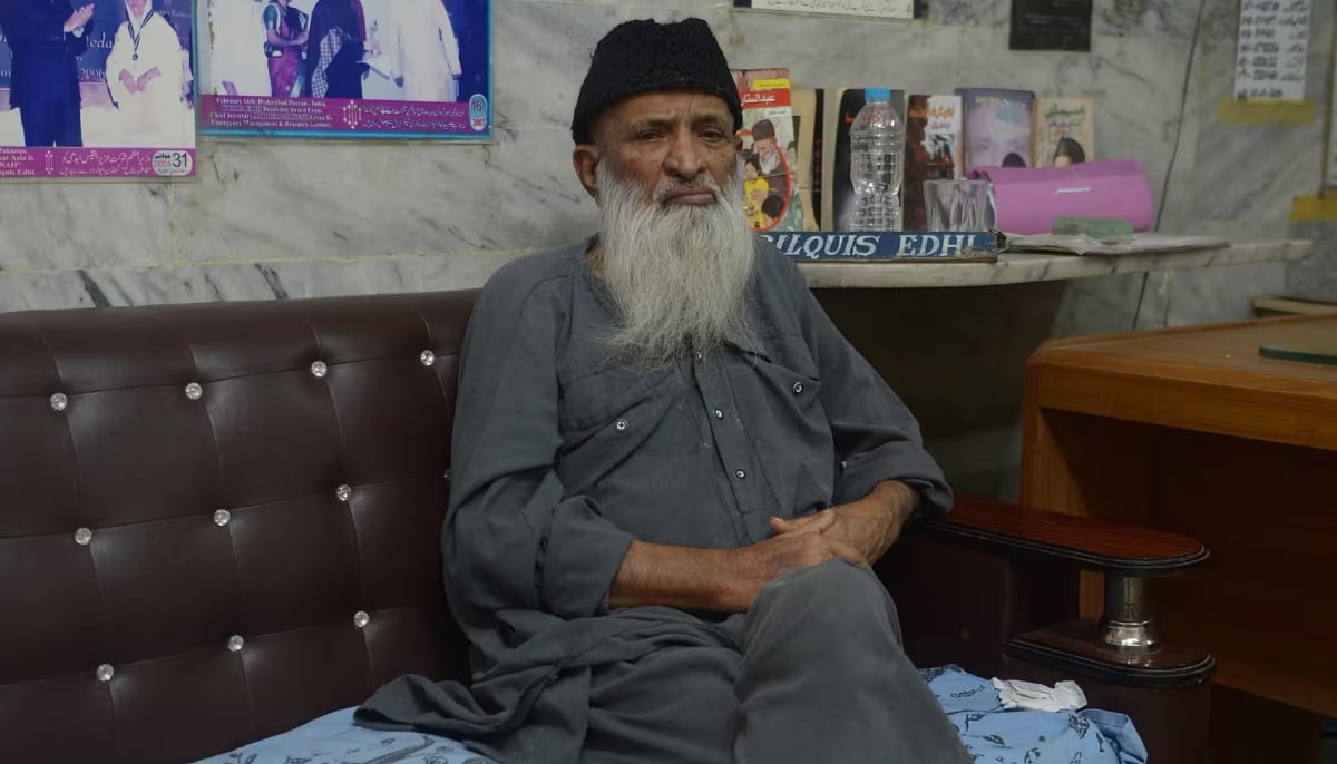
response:
M630 21L572 122L596 236L499 271L444 534L475 683L366 725L511 763L969 761L868 565L951 493L917 425L741 214L709 27Z

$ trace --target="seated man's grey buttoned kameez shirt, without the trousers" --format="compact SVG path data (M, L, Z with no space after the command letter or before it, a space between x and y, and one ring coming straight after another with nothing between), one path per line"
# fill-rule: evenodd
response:
M915 488L923 514L951 508L915 418L769 243L758 239L747 294L753 339L648 374L607 362L616 318L588 244L507 264L469 323L443 554L452 610L477 650L472 695L388 685L364 723L429 727L515 760L551 753L525 717L544 717L548 696L579 704L579 683L563 681L579 666L634 660L666 638L735 641L730 620L610 613L632 538L755 544L770 516L854 501L886 480ZM513 735L523 724L527 743Z

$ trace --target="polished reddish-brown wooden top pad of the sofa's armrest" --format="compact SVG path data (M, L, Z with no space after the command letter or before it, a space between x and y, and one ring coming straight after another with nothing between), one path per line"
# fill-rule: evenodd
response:
M1194 538L1090 517L1024 509L973 496L959 496L929 530L975 538L1020 552L1044 554L1087 570L1150 578L1171 576L1207 561Z

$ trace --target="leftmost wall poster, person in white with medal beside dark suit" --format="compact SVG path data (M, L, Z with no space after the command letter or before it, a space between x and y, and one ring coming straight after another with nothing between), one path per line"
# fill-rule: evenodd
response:
M0 0L0 178L195 171L191 0Z

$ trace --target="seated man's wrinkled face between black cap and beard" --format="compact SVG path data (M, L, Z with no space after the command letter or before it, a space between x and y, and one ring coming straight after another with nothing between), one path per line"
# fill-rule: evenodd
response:
M668 91L628 98L595 126L599 162L646 190L710 178L723 186L735 170L734 118L717 96ZM713 204L715 195L683 187L664 204Z

